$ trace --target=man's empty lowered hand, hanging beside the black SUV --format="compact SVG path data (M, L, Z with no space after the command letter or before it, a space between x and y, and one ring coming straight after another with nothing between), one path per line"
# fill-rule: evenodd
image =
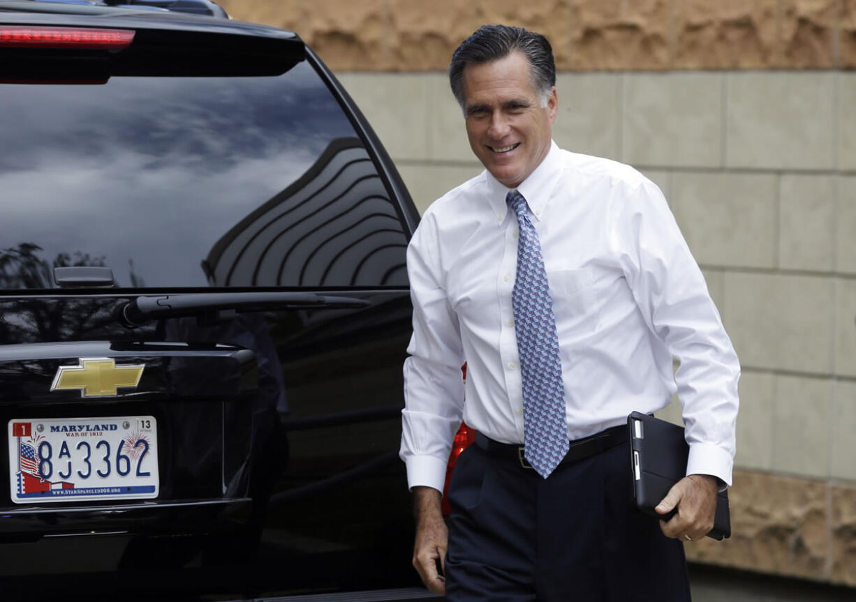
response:
M413 515L416 518L416 543L413 545L413 567L425 587L432 593L446 593L446 580L437 573L446 562L449 529L443 521L442 494L433 487L413 487Z

